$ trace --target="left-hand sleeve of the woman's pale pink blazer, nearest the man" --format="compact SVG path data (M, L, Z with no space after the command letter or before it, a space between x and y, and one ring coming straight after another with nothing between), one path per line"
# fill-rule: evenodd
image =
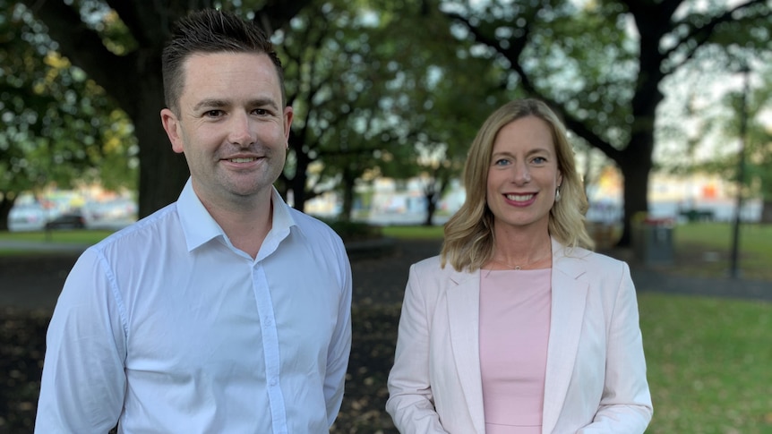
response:
M433 303L425 298L431 289L422 282L416 264L410 267L399 317L397 350L387 386L386 411L400 433L445 433L434 409L429 380L429 334Z

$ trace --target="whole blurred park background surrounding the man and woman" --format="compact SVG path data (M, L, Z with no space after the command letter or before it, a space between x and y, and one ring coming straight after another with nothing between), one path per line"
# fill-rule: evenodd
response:
M101 237L176 200L188 171L160 127L160 54L172 23L202 7L276 43L296 114L277 183L287 202L336 228L433 240L405 252L441 242L485 117L545 100L570 133L598 247L634 253L622 259L640 291L649 432L772 432L772 305L648 293L751 277L757 298L772 294L769 0L0 0L0 238ZM0 244L0 290L21 293L10 272L46 274L51 257L14 249ZM353 261L372 277L356 290L387 275L404 285L414 258L396 251L399 264ZM390 295L356 303L335 432L393 432ZM49 314L0 317L0 434L31 430Z

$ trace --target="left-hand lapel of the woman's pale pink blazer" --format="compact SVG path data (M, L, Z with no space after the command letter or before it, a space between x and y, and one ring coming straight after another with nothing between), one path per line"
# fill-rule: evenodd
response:
M480 271L455 273L450 278L458 284L446 293L450 345L472 422L475 430L482 433L485 432L485 412L480 377Z

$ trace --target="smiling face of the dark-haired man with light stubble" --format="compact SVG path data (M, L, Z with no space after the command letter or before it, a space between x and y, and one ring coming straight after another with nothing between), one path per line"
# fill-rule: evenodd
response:
M183 152L193 190L207 207L270 200L284 168L292 108L281 101L268 55L192 55L178 114L161 111L172 149Z

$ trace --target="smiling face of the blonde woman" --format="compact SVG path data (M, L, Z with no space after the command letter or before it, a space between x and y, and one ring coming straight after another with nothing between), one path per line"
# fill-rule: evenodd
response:
M504 125L493 141L485 197L495 225L547 230L561 183L549 125L536 116Z

